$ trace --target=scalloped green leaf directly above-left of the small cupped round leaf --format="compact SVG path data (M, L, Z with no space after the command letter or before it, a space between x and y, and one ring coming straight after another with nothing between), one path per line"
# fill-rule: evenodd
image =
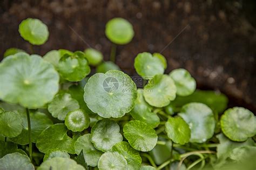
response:
M65 120L66 114L79 108L78 101L71 98L68 93L60 93L48 104L48 111L52 117Z

